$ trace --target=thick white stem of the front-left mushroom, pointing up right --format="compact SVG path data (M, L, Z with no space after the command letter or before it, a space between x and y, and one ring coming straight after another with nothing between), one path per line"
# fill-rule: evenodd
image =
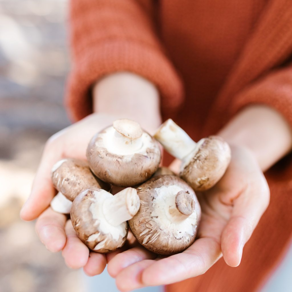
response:
M130 220L139 211L140 199L137 190L128 187L114 196L106 199L102 210L105 219L112 226Z

